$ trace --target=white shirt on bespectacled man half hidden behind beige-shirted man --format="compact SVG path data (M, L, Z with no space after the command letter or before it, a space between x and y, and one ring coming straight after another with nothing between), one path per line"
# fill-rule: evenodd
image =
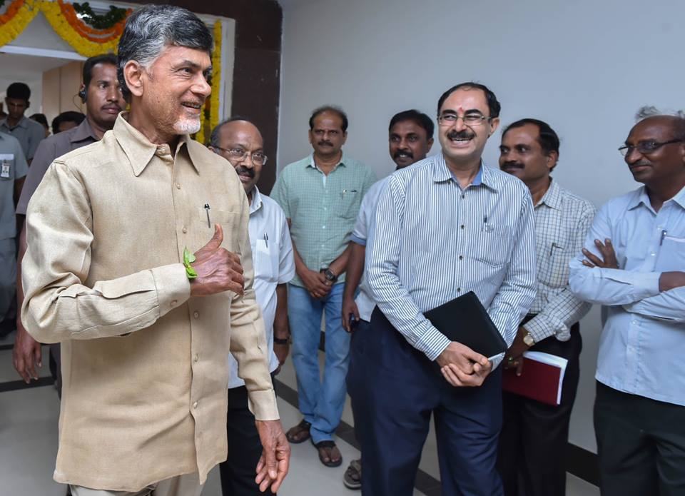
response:
M250 247L252 248L255 280L253 288L262 310L266 343L270 357L269 371L278 368L273 353L273 321L276 316L276 286L290 282L295 275L293 243L290 241L288 222L283 209L268 196L259 193L257 186L250 202ZM238 377L238 362L228 355L230 375L228 388L240 388L245 382Z

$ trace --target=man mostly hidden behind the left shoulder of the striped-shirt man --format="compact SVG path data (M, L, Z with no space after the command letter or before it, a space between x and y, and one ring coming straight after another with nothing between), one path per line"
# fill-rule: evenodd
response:
M390 157L395 162L395 170L410 166L412 163L426 158L426 154L433 146L433 121L425 113L407 110L396 113L390 119L388 129L388 145ZM387 178L377 181L362 200L362 205L355 223L355 230L350 238L350 258L347 260L347 278L345 290L342 292L342 327L348 333L368 332L371 313L375 303L371 298L366 278L363 277L366 241L371 229L373 216L378 203L378 196ZM355 300L355 294L359 295ZM355 334L350 343L350 370L347 372L347 392L352 398L352 413L355 411L355 385L363 381L363 375L355 373ZM355 416L357 422L365 422L364 418ZM350 489L362 487L362 460L352 460L342 479Z

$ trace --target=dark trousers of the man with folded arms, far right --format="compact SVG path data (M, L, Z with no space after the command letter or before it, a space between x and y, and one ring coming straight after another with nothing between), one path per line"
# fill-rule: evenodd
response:
M685 495L685 406L598 382L594 432L602 496Z

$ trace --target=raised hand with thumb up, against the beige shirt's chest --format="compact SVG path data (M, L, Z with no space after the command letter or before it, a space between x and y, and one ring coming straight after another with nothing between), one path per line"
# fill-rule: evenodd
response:
M206 296L224 291L243 294L245 280L240 258L235 253L221 248L223 228L214 225L214 236L209 243L195 253L191 264L198 276L191 279L191 296Z

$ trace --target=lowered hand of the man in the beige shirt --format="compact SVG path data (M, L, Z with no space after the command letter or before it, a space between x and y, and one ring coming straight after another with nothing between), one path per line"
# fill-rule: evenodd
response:
M268 487L271 492L278 492L290 467L290 443L285 438L280 420L256 420L255 424L263 447L255 482L261 492Z

